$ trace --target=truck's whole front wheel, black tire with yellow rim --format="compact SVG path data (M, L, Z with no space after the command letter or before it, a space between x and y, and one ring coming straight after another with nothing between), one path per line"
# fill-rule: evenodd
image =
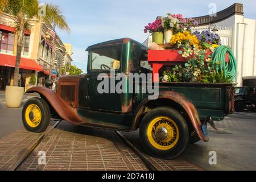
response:
M28 110L28 109L30 109L31 105L35 105L34 107L39 108L39 110L40 110L41 117L39 117L39 119L38 119L38 121L40 121L40 122L39 122L39 124L37 124L35 126L31 126L31 125L34 125L34 123L32 122L32 120L30 118L26 119L26 114L28 114L28 113L32 113L32 117L35 118L34 112ZM36 111L38 111L38 110L36 110ZM28 114L27 117L30 117L30 114ZM42 133L42 132L46 131L47 127L49 126L49 122L51 121L51 112L49 110L49 106L48 106L47 102L45 100L43 100L43 98L30 98L30 100L28 100L26 102L26 104L23 106L22 121L23 121L23 125L27 131L31 131L34 133Z

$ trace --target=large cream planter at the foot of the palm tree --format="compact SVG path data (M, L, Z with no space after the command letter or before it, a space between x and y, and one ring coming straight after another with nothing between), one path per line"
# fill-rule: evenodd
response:
M5 99L6 106L11 108L18 108L23 100L24 87L20 86L6 86Z

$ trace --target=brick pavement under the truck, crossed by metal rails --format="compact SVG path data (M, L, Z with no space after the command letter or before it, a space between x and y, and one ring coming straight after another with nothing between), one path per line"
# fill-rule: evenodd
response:
M49 129L48 129L49 130ZM159 170L200 170L185 160L152 158L141 148L138 133L123 133ZM42 134L24 129L0 139L0 170L15 163ZM46 152L46 165L39 165L39 152ZM19 166L18 170L147 170L142 160L110 130L73 126L65 121L53 129Z

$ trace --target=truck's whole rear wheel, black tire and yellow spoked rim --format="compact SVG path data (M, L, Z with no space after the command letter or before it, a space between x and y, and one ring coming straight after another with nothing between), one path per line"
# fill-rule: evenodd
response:
M140 137L146 151L155 157L172 159L185 150L189 141L187 122L171 107L157 107L141 122Z

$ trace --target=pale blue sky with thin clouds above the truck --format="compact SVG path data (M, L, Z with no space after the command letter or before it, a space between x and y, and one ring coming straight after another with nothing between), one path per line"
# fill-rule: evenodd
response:
M207 15L209 4L216 3L221 11L233 3L242 3L245 18L256 19L255 0L40 0L60 6L71 33L60 31L57 34L63 43L73 46L72 59L82 71L86 72L87 52L93 44L119 38L131 38L143 43L147 39L143 29L153 22L156 16L166 13L183 14L184 17Z

